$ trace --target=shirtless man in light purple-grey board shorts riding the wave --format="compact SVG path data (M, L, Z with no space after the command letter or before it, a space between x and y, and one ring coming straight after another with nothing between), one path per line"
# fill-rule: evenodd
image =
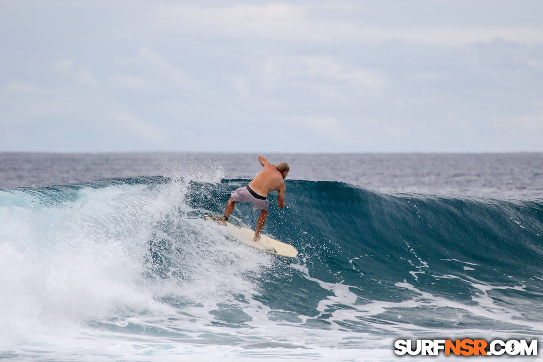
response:
M256 222L255 237L252 239L254 241L260 240L260 230L262 230L264 222L266 222L266 218L268 217L270 204L267 199L268 192L277 190L277 206L280 208L285 206L285 181L283 180L287 177L289 171L289 167L285 162L275 166L270 164L262 156L258 156L258 162L264 166L262 171L256 175L255 179L249 185L230 193L226 210L224 210L224 217L219 219L223 223L228 220L236 201L252 203L254 209L261 210Z

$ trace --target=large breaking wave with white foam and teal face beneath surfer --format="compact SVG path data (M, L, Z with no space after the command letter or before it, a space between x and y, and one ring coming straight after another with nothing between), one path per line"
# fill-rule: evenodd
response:
M287 206L277 208L271 193L263 230L300 252L286 259L197 219L222 214L229 192L248 181L141 177L0 190L6 330L64 321L281 348L311 343L314 332L293 330L318 330L323 341L334 331L340 338L330 343L341 347L356 345L353 333L543 333L540 199L287 180ZM232 221L254 228L257 215L238 203ZM203 334L210 326L219 332Z

